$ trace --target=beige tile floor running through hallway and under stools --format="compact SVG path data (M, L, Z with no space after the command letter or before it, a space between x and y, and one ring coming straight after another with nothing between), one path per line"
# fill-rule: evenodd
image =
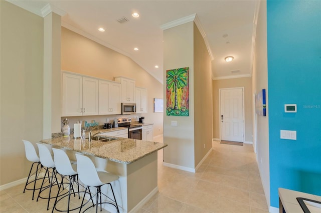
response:
M251 144L214 141L212 152L196 173L163 166L162 157L163 152L158 151L158 193L138 213L268 212ZM46 211L47 200L32 200L32 192L23 193L23 188L20 184L0 191L0 212L52 211L53 200Z

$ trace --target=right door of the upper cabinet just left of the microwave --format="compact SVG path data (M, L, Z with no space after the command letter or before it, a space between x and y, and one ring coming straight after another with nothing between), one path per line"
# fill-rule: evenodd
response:
M110 83L109 85L109 107L110 114L121 114L121 100L120 100L121 85L120 83Z

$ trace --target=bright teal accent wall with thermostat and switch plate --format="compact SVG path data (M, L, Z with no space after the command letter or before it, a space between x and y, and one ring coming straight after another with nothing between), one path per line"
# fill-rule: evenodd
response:
M321 195L321 0L267 0L270 200ZM284 104L296 103L297 113ZM296 140L280 130L296 130Z

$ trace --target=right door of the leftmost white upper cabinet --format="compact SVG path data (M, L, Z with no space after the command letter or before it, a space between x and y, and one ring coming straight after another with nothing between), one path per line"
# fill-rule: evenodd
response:
M96 115L98 114L98 79L83 77L83 91L82 91L82 114Z

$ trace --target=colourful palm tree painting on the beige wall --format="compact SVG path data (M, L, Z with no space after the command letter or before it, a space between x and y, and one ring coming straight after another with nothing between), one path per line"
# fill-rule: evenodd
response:
M189 67L166 71L166 113L189 116Z

